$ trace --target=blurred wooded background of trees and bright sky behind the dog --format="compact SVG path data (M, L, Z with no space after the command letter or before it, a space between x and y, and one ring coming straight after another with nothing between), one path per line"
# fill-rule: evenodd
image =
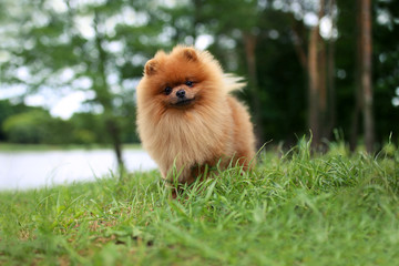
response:
M0 142L110 143L123 163L144 63L183 43L245 78L259 145L378 151L398 142L398 37L397 0L2 0Z

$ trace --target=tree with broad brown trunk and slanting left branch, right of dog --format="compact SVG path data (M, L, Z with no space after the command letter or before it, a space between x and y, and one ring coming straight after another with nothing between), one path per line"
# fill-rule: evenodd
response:
M304 11L317 13L317 22L306 25L303 21L293 23L293 43L308 76L307 123L313 134L313 146L320 146L321 140L330 140L336 124L335 91L335 10L334 0L319 0L316 6L301 3ZM330 21L329 35L321 37L323 19ZM308 33L304 28L308 27ZM307 37L307 38L306 38ZM307 44L307 45L306 45Z

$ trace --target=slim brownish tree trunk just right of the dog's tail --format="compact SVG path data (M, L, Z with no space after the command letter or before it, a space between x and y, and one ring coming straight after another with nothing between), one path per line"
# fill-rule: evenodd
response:
M262 106L259 101L259 89L256 71L256 35L250 33L244 33L244 44L245 44L245 57L248 68L248 78L249 78L249 90L252 94L252 105L254 109L254 121L255 121L255 135L257 140L257 147L260 147L265 142L263 134L263 123L262 123Z

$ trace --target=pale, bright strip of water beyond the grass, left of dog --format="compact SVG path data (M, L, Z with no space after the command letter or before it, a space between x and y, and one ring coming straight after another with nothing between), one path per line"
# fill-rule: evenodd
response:
M126 168L147 171L156 164L141 150L124 150ZM74 150L49 152L0 152L0 190L25 190L93 181L116 173L116 158L111 150Z

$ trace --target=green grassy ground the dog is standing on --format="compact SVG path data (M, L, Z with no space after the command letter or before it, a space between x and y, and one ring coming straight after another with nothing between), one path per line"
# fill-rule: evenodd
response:
M399 151L301 142L171 200L156 172L0 194L4 265L398 265Z

